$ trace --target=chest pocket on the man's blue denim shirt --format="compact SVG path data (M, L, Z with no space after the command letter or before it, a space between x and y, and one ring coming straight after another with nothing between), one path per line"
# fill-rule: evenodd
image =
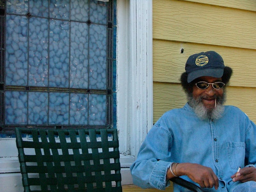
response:
M228 163L231 169L244 167L245 143L227 142Z

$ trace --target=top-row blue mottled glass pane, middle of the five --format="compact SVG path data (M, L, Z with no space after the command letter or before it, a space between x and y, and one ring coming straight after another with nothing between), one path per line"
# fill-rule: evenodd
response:
M69 0L50 0L50 18L69 20Z

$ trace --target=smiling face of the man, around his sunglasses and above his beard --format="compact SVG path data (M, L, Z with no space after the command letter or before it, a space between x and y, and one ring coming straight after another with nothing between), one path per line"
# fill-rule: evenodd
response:
M221 82L221 78L214 78L209 76L203 76L197 78L196 80L196 83L199 81L204 81L207 83ZM199 89L196 85L194 85L192 95L195 100L201 101L207 110L212 110L215 108L216 98L223 97L223 88L214 89L210 84L206 89Z

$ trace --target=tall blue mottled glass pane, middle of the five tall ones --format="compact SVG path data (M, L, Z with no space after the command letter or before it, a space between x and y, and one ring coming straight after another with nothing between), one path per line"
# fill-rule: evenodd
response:
M50 87L68 87L69 22L50 20Z

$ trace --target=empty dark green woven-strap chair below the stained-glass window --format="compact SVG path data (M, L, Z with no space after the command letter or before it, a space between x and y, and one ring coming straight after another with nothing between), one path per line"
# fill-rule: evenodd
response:
M122 191L116 129L15 133L24 191Z

